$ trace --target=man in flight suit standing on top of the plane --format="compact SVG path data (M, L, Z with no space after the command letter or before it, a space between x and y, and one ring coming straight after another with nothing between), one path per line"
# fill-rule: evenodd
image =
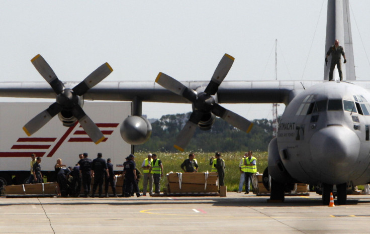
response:
M340 60L340 55L343 55L343 58L344 58L343 63L346 63L347 60L345 59L343 47L339 46L338 39L334 41L334 45L330 46L328 52L326 53L326 57L325 57L326 65L328 63L328 56L330 54L331 54L331 63L330 63L330 71L329 71L329 81L333 80L333 71L334 71L335 65L337 65L337 69L339 72L339 78L340 78L340 81L342 81L343 75L342 75L342 64Z

